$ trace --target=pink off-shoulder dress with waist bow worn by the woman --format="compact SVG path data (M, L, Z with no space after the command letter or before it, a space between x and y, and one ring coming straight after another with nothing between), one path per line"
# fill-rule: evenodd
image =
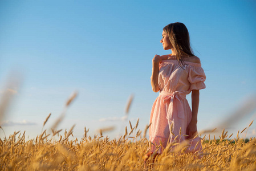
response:
M172 143L174 138L178 142L186 140L186 128L192 119L192 111L189 107L186 95L193 89L205 88L205 73L200 63L185 62L180 66L178 61L162 60L159 64L159 88L160 93L156 98L151 110L149 127L149 141L151 141L151 152L161 146L158 153ZM173 125L172 133L170 127ZM181 128L181 134L180 134ZM189 148L186 152L201 150L201 139L197 137L189 141Z

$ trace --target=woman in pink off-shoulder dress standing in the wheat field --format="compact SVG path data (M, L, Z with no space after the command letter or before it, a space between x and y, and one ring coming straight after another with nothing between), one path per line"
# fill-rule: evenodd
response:
M183 23L170 23L162 31L160 40L169 55L155 55L152 60L151 86L159 96L153 104L149 127L151 148L145 161L156 152L161 154L168 143L188 140L186 152L201 150L197 136L199 90L205 88L205 73L200 59L190 47L189 32ZM192 92L192 111L186 95ZM197 137L195 137L197 136Z

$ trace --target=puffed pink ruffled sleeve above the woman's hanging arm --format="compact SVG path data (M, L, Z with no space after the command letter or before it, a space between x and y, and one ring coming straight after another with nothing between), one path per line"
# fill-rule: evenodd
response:
M201 67L201 64L198 66L189 66L189 76L188 80L190 82L190 90L193 89L204 89L205 88L205 72Z

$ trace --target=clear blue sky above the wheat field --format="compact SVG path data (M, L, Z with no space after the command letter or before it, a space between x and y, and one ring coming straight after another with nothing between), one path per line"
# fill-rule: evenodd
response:
M139 118L144 129L158 96L150 84L152 58L171 53L160 39L173 22L188 28L206 74L198 131L214 128L255 97L256 1L0 1L1 94L12 71L23 78L2 120L6 135L26 130L35 137L48 113L50 129L74 91L78 97L58 129L76 124L74 136L82 137L84 127L94 135L114 126L115 137L129 125L121 117L132 93L128 120ZM234 133L255 112L233 123Z

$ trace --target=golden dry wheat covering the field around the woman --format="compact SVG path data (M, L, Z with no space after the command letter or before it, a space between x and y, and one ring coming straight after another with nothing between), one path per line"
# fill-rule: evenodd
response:
M72 129L60 135L61 130L46 130L36 139L25 141L25 132L14 132L9 138L0 140L1 170L144 170L143 156L147 153L148 140L141 131L131 126L128 134L110 140L101 136L87 136L84 129L81 140L69 140ZM44 123L45 124L45 123ZM149 126L146 127L148 129ZM247 129L247 128L246 128ZM144 131L147 132L147 131ZM182 153L184 146L170 152L165 149L157 156L152 170L255 170L256 140L245 143L239 139L227 140L223 131L220 140L202 140L202 158ZM186 146L185 146L186 148Z

